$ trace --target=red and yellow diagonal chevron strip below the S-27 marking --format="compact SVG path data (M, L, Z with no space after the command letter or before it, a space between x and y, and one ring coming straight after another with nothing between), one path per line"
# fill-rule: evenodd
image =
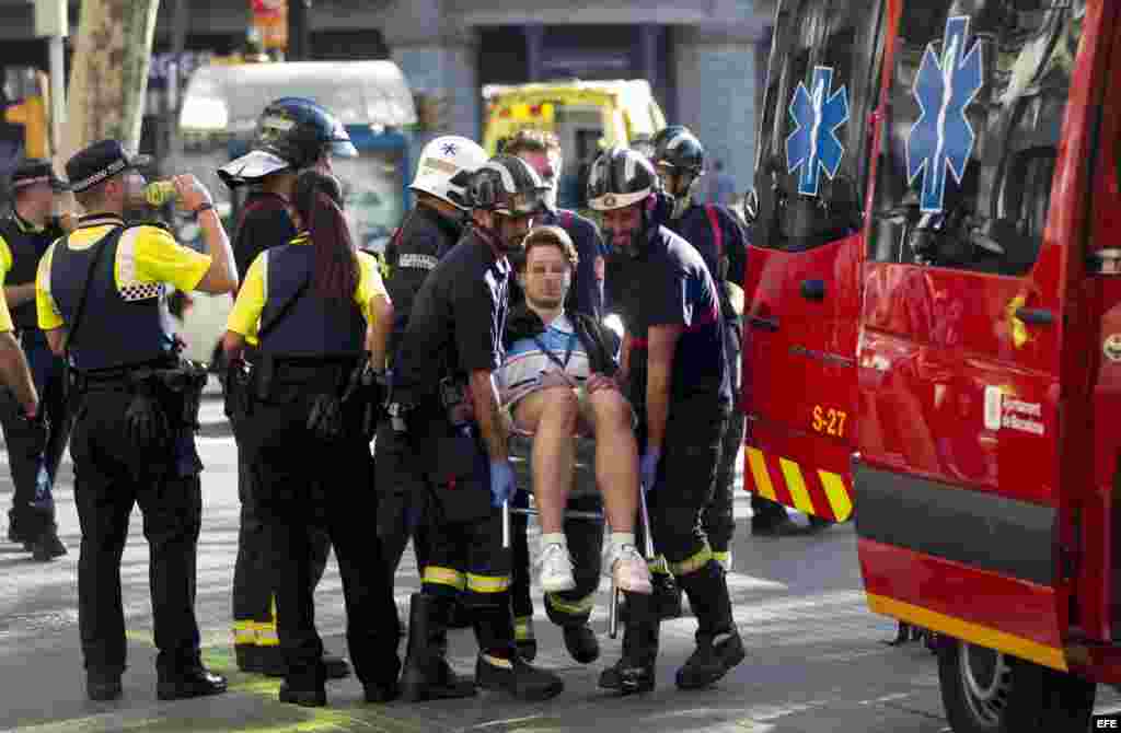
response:
M806 514L843 522L852 516L852 489L832 471L806 471L795 461L743 446L743 488Z

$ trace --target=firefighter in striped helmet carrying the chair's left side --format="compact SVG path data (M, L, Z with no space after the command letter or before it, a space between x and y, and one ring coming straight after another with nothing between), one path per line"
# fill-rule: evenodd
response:
M434 639L461 593L479 642L479 687L524 699L546 699L564 687L515 647L501 511L515 477L493 380L502 356L507 254L521 245L544 189L513 156L497 156L475 173L467 191L471 224L420 287L397 351L390 410L407 429L415 470L424 473L433 501L432 557L421 592L410 599L401 675L407 699L458 693Z

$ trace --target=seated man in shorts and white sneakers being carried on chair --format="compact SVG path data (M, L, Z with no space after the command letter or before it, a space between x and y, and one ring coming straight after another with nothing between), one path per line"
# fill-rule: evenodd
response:
M595 442L595 481L611 528L608 566L620 590L650 593L650 572L634 545L634 414L614 380L613 342L599 322L565 312L577 256L563 229L532 229L522 262L518 279L526 300L510 312L498 382L511 430L532 436L529 461L541 527L541 587L560 593L576 586L563 526L576 437L586 436Z

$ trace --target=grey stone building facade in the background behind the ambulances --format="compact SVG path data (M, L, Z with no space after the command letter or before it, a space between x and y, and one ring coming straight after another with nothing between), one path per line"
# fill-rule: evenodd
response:
M177 1L160 3L157 58L172 48ZM184 48L222 55L244 46L248 1L185 1ZM646 78L667 120L693 129L742 193L773 12L775 0L314 0L309 48L315 59L388 56L415 92L444 101L442 131L475 138L483 84ZM45 68L45 43L31 28L28 0L0 0L0 64ZM154 64L155 90L164 66Z

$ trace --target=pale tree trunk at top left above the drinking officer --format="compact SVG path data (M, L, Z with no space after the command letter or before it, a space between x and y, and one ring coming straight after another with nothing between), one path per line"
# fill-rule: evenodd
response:
M113 138L136 150L159 0L82 0L62 161Z

